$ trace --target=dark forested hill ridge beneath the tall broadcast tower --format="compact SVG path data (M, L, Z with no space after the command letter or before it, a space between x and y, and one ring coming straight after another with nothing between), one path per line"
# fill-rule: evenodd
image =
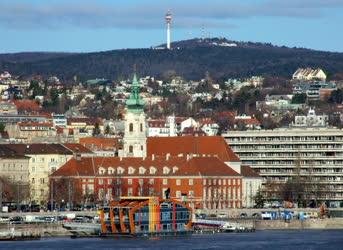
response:
M290 77L298 67L321 67L329 74L343 70L343 53L226 39L191 39L172 44L174 49L122 49L93 53L0 54L0 71L15 75L56 75L70 79L123 79L137 65L140 75L174 73L186 79L279 75Z

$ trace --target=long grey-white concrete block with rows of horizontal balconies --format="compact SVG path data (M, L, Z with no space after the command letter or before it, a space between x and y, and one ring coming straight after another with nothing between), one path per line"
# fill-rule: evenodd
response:
M223 134L240 157L276 189L269 198L279 200L277 188L294 177L310 182L307 200L343 201L343 130L336 128L286 128L229 131Z

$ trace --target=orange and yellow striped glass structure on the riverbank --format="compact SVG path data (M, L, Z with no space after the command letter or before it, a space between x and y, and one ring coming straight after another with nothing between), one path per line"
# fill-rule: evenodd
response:
M100 210L101 234L177 234L192 231L192 209L174 199L122 197Z

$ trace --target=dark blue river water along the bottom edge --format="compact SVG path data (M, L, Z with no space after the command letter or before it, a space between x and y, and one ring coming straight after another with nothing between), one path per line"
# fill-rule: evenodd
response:
M257 231L164 239L44 238L0 242L0 249L343 249L343 230Z

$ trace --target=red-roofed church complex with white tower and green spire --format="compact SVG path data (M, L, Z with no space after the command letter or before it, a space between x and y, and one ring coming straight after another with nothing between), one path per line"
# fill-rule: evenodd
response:
M72 178L83 197L108 202L120 196L160 196L195 209L252 207L261 177L221 136L147 137L144 101L136 75L126 101L123 149L118 157L73 158L50 176Z

